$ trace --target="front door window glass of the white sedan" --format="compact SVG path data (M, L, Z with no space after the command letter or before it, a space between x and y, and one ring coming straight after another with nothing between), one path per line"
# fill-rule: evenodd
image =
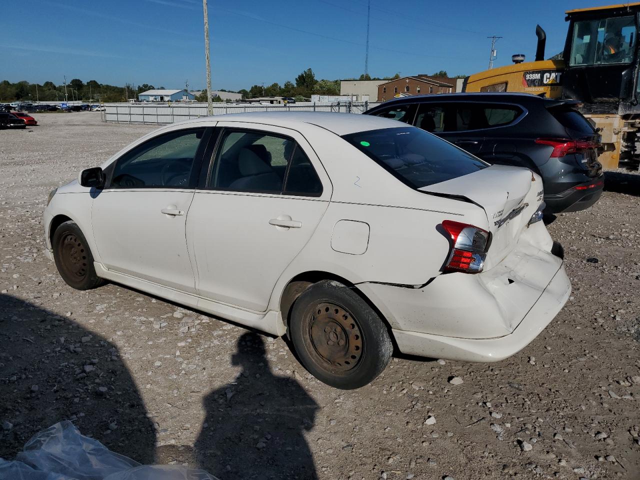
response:
M186 188L205 129L159 135L116 161L110 188Z

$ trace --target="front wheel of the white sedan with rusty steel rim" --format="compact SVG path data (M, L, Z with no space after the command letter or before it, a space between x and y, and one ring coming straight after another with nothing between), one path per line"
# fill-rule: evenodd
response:
M76 223L62 223L56 228L51 243L56 268L67 285L76 290L90 290L105 283L95 273L93 255Z

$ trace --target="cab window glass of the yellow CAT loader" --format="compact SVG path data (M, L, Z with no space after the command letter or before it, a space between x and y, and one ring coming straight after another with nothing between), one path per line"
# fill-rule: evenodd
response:
M570 65L631 63L636 36L631 16L575 22Z

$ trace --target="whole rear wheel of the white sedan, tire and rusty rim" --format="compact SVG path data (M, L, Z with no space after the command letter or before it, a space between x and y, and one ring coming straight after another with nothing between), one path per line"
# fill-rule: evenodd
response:
M301 363L331 387L371 383L387 366L387 325L353 289L332 280L308 287L291 310L289 338Z

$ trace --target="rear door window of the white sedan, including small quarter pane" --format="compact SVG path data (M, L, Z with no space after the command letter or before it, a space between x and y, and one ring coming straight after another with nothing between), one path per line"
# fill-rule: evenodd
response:
M319 196L322 184L292 138L260 131L225 129L207 188Z

